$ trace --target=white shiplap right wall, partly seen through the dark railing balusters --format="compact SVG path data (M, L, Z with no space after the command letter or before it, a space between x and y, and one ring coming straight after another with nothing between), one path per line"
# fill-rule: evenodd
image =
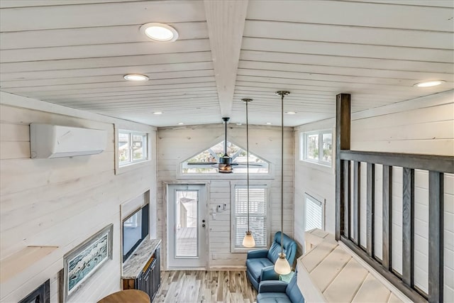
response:
M354 96L353 96L354 97ZM334 170L299 160L300 133L333 128L333 119L295 128L295 237L304 243L304 191L326 198L326 230L335 230ZM351 149L397 153L454 155L453 91L401 102L352 115ZM402 271L402 168L393 167L393 260ZM361 168L361 199L365 201L365 164ZM375 171L375 246L381 247L381 174ZM454 301L454 176L445 175L445 302ZM365 203L362 203L362 245L365 246ZM427 291L428 280L428 173L415 172L415 285ZM381 251L376 250L381 258Z

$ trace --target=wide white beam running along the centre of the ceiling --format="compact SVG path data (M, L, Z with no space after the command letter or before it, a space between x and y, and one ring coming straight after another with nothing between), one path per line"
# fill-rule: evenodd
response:
M204 4L221 117L230 117L248 1L205 0Z

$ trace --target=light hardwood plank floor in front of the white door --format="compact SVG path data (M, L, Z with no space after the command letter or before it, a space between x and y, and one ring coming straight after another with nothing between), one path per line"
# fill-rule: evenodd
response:
M161 272L153 303L253 303L257 292L243 270L172 270Z

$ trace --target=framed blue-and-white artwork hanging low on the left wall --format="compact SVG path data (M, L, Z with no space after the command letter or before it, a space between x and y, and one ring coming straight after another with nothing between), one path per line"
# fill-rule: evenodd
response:
M104 227L63 257L63 302L112 259L113 227Z

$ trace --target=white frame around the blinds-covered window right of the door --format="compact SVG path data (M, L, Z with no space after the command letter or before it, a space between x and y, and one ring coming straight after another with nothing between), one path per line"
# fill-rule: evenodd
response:
M249 250L254 249L267 249L270 244L270 201L271 201L271 191L270 191L270 184L267 182L260 182L260 181L252 181L250 182L250 187L259 187L265 189L265 209L266 209L266 219L265 219L265 246L255 246L253 248L245 248L243 246L236 247L236 188L247 188L246 182L238 181L238 182L231 182L231 253L247 253ZM253 233L254 235L254 233Z

